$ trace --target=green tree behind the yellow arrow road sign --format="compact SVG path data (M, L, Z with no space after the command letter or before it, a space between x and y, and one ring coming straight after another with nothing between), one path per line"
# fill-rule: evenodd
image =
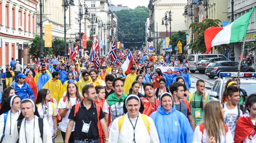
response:
M172 34L172 53L176 53L175 46L178 44L179 41L182 44L182 52L185 52L184 47L187 45L186 35L188 34L184 31L178 31L175 34Z

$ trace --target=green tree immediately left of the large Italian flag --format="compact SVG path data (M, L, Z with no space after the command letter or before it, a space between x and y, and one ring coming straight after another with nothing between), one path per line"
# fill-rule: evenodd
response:
M214 20L205 18L202 22L191 23L189 28L193 27L193 34L198 31L198 36L194 39L194 42L189 44L189 48L193 49L194 52L204 53L206 51L204 44L204 31L212 26L219 27L219 22L221 22L219 19Z

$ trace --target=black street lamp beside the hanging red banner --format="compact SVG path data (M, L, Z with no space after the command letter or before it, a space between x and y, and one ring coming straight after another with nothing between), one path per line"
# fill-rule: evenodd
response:
M84 12L83 12L84 7ZM88 6L86 4L81 4L79 0L79 38L80 38L80 49L82 49L82 33L81 33L81 20L84 15L89 15L88 13ZM79 58L82 58L82 52L79 52Z

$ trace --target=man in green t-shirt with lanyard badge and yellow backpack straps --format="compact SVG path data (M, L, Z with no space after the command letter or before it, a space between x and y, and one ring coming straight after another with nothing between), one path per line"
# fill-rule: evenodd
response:
M204 117L204 106L209 100L209 96L205 94L205 83L203 80L197 80L196 88L197 91L190 93L186 100L190 104L195 124L198 125Z

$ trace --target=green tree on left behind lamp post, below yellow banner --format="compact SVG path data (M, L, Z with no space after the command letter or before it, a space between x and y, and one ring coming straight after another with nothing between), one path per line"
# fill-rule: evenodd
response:
M39 57L40 53L40 35L34 35L34 39L29 41L30 48L28 49L28 54L34 59ZM43 55L44 57L52 55L51 47L44 47L43 40Z

